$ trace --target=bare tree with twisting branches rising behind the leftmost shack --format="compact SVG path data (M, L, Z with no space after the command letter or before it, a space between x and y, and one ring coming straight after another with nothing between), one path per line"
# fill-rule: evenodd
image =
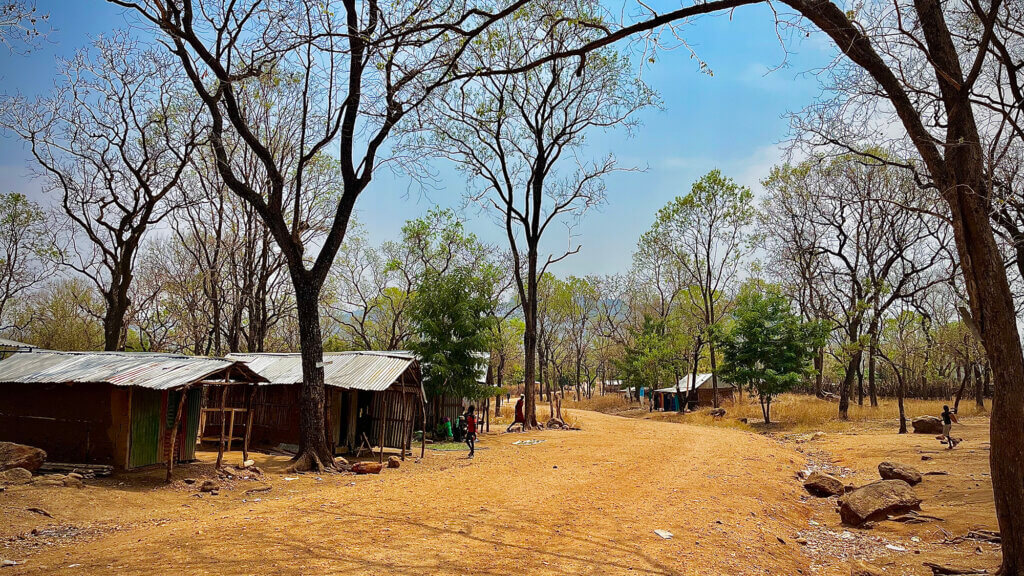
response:
M103 346L125 343L135 258L145 234L174 208L196 147L199 114L174 91L174 66L123 34L60 65L52 95L8 100L3 125L31 147L45 191L72 229L66 264L105 303Z

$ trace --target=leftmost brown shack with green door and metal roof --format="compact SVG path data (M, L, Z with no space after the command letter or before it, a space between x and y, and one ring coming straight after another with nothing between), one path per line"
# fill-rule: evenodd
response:
M14 354L0 361L0 440L41 448L50 461L170 470L195 458L203 385L259 379L240 362L214 358Z

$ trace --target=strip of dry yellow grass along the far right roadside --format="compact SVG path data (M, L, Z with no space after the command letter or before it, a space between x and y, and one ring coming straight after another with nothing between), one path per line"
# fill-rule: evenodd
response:
M566 402L566 405L569 403ZM946 400L916 400L907 399L904 402L907 419L916 416L931 414L938 416L942 412L943 405L951 405L951 401ZM621 396L594 397L579 403L571 403L573 408L580 410L594 410L610 414L624 414L636 417L654 417L672 421L681 421L690 424L711 425L740 428L748 430L763 431L766 426L761 414L761 405L757 399L743 398L735 402L725 402L723 408L726 410L724 418L715 418L711 415L710 408L702 408L696 412L688 414L676 414L655 412L648 415L646 409L638 410L638 404L627 402ZM632 413L630 411L633 411ZM987 413L979 409L973 399L961 401L959 415L971 417ZM746 422L742 419L745 418ZM809 395L785 394L776 398L771 405L771 430L777 431L843 431L852 426L859 427L888 427L896 425L899 420L899 407L896 399L879 399L879 406L859 406L856 402L850 406L849 420L842 420L839 417L839 406L834 401L821 400Z

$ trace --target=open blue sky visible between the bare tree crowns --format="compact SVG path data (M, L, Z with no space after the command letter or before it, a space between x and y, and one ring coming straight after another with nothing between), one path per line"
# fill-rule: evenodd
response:
M28 55L0 53L2 91L36 94L48 90L55 73L55 57L67 56L90 37L126 25L119 8L100 0L40 0L55 29L46 45ZM665 6L668 8L668 6ZM580 253L559 262L559 275L611 274L629 268L637 238L653 221L659 207L714 168L758 192L758 181L779 162L779 142L786 137L787 112L813 101L819 85L809 71L834 57L826 42L811 36L788 43L788 54L779 44L774 20L766 6L739 8L731 17L705 16L684 30L684 37L714 71L697 72L696 61L684 48L660 52L643 75L664 100L664 110L640 115L642 125L632 138L623 131L588 136L588 153L595 158L608 152L623 166L646 168L643 172L608 177L607 204L589 212L573 230ZM783 59L786 67L777 68ZM771 71L771 72L770 72ZM29 156L23 145L0 138L0 190L24 192L43 202L38 187L28 177ZM356 204L357 218L374 242L394 238L404 220L439 204L463 206L465 181L444 164L440 190L421 194L387 170L378 172ZM464 212L469 229L488 242L504 245L504 233L489 215L475 208ZM550 229L546 247L563 249L563 227Z

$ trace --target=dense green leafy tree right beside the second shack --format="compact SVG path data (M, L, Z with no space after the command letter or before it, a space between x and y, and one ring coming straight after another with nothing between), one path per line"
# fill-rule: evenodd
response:
M423 363L427 396L482 398L492 392L477 382L479 354L490 349L495 318L485 276L468 266L445 274L429 271L410 306L419 339L410 345Z

